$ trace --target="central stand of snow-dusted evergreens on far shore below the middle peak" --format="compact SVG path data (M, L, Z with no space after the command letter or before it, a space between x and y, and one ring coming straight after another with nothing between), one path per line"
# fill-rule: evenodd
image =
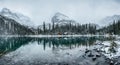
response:
M38 27L38 34L95 34L95 24L79 24L79 23L54 23L46 24L43 22L43 26Z

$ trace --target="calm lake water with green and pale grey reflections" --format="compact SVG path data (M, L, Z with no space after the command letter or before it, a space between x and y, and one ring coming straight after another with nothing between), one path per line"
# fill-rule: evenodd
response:
M76 65L96 41L106 37L0 37L0 65ZM80 59L82 60L82 59Z

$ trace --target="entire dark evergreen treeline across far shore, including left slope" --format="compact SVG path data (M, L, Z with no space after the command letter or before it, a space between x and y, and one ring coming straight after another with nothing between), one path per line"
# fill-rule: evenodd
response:
M119 35L120 21L114 21L108 26L98 29L97 24L80 24L63 20L61 22L52 21L52 23L45 23L36 28L30 28L19 24L13 19L0 15L0 35L74 35L74 34L97 34L97 35Z

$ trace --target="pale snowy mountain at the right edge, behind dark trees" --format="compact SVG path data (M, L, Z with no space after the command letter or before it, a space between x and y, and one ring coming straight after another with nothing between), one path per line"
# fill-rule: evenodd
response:
M114 21L117 22L120 20L120 15L113 15L113 16L107 16L104 19L102 19L100 22L102 26L112 24Z

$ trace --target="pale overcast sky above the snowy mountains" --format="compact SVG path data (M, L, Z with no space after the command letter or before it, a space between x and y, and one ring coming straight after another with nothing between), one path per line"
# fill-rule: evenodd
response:
M36 25L50 22L56 12L79 23L98 24L106 16L120 15L120 0L0 0L0 9L4 7L30 17Z

